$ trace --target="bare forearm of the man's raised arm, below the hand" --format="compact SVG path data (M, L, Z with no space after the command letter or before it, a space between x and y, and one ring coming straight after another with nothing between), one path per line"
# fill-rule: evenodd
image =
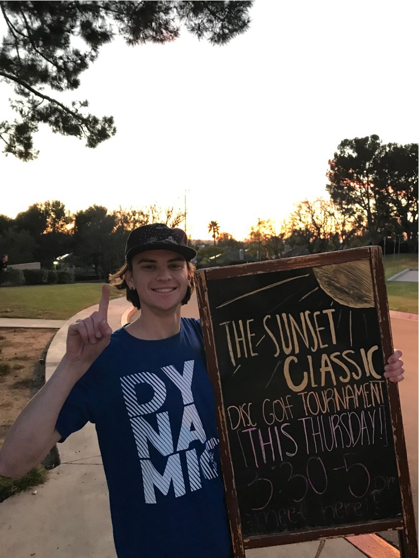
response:
M66 398L88 364L64 357L45 386L27 403L0 449L0 475L21 477L58 441L55 424Z

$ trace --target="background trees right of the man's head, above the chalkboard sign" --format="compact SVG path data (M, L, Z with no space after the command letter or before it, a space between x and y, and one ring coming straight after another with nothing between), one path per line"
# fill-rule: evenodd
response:
M240 246L216 221L208 232L222 263L228 249L256 259L300 256L380 245L384 251L418 251L418 144L383 145L377 135L343 140L328 161L328 198L305 199L280 225L258 219ZM221 253L220 253L221 252ZM218 254L218 256L216 256Z

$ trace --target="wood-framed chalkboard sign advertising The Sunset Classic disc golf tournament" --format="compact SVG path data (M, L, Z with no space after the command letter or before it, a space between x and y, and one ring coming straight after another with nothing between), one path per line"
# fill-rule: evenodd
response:
M417 546L380 254L197 273L237 557L387 528Z

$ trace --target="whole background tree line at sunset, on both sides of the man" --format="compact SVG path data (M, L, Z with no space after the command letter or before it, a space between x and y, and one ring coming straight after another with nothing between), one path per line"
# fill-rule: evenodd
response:
M196 241L198 264L240 263L380 244L418 249L418 145L383 145L378 136L343 140L328 162L329 197L303 200L280 225L258 219L240 242L212 220L213 242ZM107 277L121 265L130 231L147 223L182 226L181 210L93 205L71 214L59 200L33 204L15 219L0 215L0 252L10 263L52 268L55 258Z

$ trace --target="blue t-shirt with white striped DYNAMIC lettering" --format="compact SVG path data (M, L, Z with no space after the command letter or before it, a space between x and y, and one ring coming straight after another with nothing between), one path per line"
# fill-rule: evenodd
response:
M201 326L145 341L120 328L60 412L94 422L118 558L227 558L231 541Z

